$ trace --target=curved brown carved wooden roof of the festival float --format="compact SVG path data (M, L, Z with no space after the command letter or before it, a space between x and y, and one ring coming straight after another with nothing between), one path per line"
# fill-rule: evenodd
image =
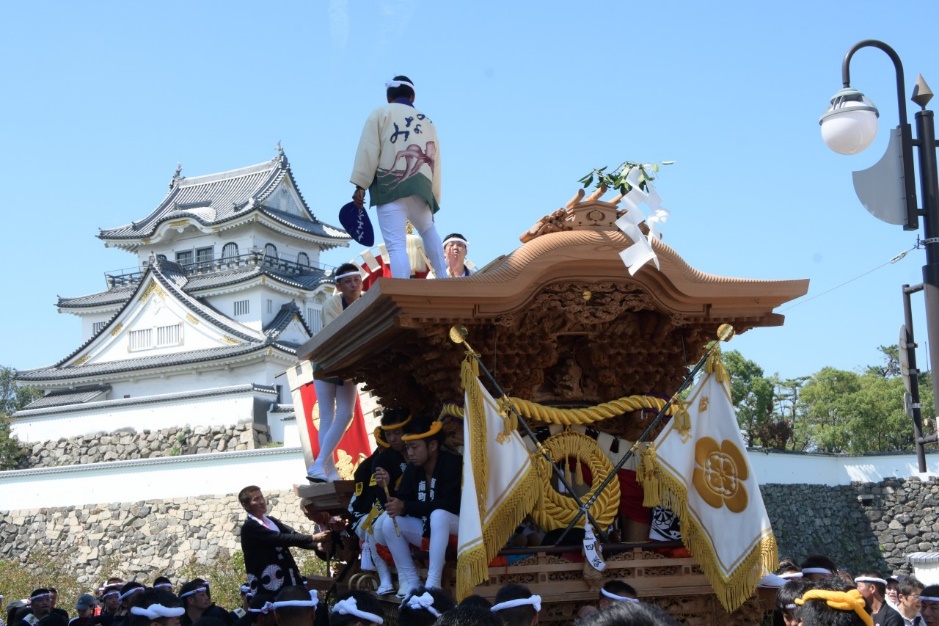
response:
M462 402L465 348L448 336L460 324L510 395L668 396L720 324L779 326L773 309L808 290L808 280L705 274L658 240L660 269L647 263L630 276L619 253L632 241L614 224L616 202L598 196L579 194L473 276L379 279L298 355L317 363L317 376L366 382L385 406L436 411Z

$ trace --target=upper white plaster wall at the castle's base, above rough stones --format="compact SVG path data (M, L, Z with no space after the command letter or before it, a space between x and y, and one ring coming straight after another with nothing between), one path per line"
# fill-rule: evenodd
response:
M271 394L253 391L148 404L131 404L124 399L107 400L89 402L77 411L51 414L42 409L21 411L12 420L11 430L20 441L33 443L102 431L114 432L119 428L140 431L182 426L231 426L254 420L255 398L268 403L275 401Z

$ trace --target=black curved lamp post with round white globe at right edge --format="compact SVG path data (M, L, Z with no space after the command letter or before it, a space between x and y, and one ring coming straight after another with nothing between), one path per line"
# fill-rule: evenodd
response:
M831 99L819 120L822 138L840 154L856 154L867 148L877 134L877 108L864 95L851 88L851 58L861 48L882 50L893 61L897 73L897 101L900 125L891 132L887 153L873 167L854 173L854 187L861 202L875 217L904 230L917 230L923 218L926 264L923 266L923 292L926 300L926 330L933 398L939 403L939 175L936 172L936 127L933 112L926 109L932 91L919 75L910 98L919 105L916 112L916 138L907 121L903 63L896 51L882 41L866 39L848 50L841 63L844 88ZM919 156L922 208L917 207L913 148ZM918 412L917 412L918 414ZM925 471L921 424L914 419L920 471Z

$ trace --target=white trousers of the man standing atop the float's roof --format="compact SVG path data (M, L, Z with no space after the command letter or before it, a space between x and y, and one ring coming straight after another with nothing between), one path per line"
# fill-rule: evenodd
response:
M381 229L385 249L391 257L391 276L411 277L407 244L408 220L411 220L424 242L424 253L434 268L434 274L437 278L446 278L447 262L443 258L443 243L434 225L434 213L427 202L418 196L399 198L388 204L378 205L378 228Z

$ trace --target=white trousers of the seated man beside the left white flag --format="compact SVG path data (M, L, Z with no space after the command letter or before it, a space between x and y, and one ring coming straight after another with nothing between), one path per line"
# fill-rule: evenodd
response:
M420 547L424 539L424 522L419 517L409 517L399 515L398 529L401 536L395 535L394 520L385 516L382 522L383 539L391 556L394 557L395 567L398 568L399 582L407 581L409 589L416 589L421 586L420 577L417 575L417 568L414 567L414 559L411 558L411 547ZM447 543L450 541L450 535L455 535L460 530L460 517L449 511L437 509L430 514L430 545L428 546L428 564L427 564L427 583L426 587L440 587L440 579L443 577L443 564L447 556ZM410 544L410 545L409 545ZM404 584L401 584L402 588Z

